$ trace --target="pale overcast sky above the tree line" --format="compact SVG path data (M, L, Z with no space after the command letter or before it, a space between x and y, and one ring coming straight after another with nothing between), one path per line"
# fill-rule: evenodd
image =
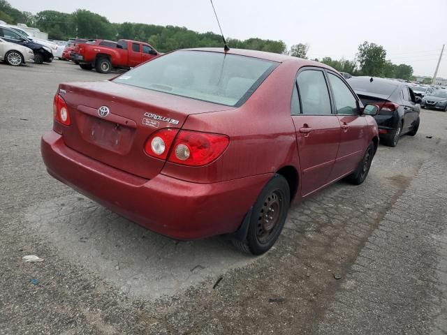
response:
M9 0L37 13L87 9L111 22L172 24L218 32L209 0ZM387 59L413 66L415 75L434 74L447 43L447 0L214 0L223 34L309 43L309 57L353 59L363 41L383 45ZM155 45L156 47L156 45ZM447 78L447 50L438 77Z

